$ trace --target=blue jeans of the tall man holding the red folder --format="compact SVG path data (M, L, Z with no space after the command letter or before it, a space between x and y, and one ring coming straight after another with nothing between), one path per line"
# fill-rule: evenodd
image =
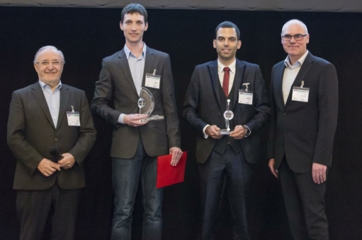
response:
M164 189L156 188L157 157L149 157L140 140L134 157L113 158L112 164L114 212L111 239L131 239L132 212L141 178L144 207L142 239L161 240Z

